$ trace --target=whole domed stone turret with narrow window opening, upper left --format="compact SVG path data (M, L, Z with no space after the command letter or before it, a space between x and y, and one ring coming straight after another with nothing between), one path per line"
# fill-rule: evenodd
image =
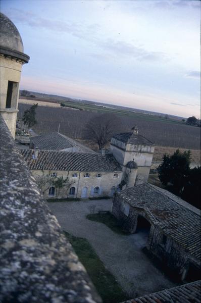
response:
M21 68L29 56L23 53L22 38L13 22L0 13L0 69L2 114L11 134L15 137Z

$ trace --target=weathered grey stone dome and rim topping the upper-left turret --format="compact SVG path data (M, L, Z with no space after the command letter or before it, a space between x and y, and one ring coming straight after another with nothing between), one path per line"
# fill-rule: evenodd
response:
M0 13L0 53L29 61L29 56L23 54L24 47L22 38L17 27L4 14Z

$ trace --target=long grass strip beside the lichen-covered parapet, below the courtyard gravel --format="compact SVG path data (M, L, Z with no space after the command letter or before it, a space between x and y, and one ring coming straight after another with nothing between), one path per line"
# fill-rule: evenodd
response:
M84 238L72 236L66 231L64 234L73 246L80 262L84 265L103 302L117 303L127 300L127 295L115 277L105 268L104 263L98 258L89 242Z

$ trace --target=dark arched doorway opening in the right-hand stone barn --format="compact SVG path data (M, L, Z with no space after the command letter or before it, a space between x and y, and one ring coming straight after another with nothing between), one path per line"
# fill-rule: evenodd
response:
M146 246L150 226L150 223L144 217L138 215L135 233L137 234L138 242L142 248Z

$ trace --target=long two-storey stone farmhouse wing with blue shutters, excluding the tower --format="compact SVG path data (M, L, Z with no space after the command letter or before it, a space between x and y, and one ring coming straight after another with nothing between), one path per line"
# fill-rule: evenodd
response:
M113 196L122 179L121 166L112 155L31 149L21 153L37 183L45 177L68 178L59 197ZM56 196L56 188L49 185L44 196Z

